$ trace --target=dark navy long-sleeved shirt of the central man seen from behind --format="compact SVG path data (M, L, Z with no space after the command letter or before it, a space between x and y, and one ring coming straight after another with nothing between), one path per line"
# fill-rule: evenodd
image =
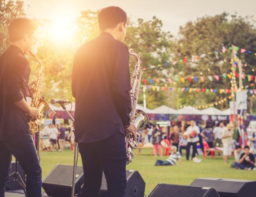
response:
M124 134L130 123L128 47L102 32L77 51L72 72L75 141L95 142Z

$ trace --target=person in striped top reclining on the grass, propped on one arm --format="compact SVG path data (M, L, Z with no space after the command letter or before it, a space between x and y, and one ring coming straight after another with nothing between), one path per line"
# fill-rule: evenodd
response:
M177 161L179 161L181 166L181 154L177 152L176 146L172 146L170 156L165 161L157 160L155 166L174 166Z

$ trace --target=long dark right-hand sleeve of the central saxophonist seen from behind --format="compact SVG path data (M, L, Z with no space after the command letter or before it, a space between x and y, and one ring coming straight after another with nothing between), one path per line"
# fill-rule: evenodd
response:
M129 91L131 90L131 76L129 70L128 47L120 44L116 47L116 59L112 77L112 92L115 106L121 116L124 126L130 124L130 112L132 101Z

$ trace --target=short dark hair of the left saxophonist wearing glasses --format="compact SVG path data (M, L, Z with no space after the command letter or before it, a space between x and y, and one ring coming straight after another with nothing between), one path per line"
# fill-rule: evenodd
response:
M34 23L29 18L14 18L8 27L9 38L11 42L19 41L24 34L33 35L35 29Z

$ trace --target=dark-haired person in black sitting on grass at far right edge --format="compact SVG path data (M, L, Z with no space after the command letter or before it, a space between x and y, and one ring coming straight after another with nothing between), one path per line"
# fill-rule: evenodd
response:
M255 168L254 156L252 153L249 152L249 150L250 150L249 146L244 147L244 153L241 154L239 164L238 164L238 169L252 170L253 168Z

